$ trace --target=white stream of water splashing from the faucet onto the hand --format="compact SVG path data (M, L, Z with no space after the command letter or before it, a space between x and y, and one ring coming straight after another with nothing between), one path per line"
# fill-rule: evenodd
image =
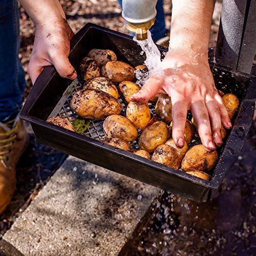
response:
M133 40L136 41L145 52L146 60L144 61L144 64L147 66L150 74L156 73L159 76L163 76L164 72L161 67L161 54L152 39L151 32L149 30L147 31L147 39L145 40L137 40L136 36Z

